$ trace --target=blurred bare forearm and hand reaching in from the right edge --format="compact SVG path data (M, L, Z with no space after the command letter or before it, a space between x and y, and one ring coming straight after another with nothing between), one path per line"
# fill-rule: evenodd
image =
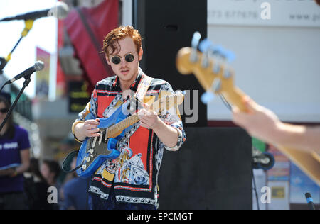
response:
M233 121L247 132L268 143L320 153L320 127L283 123L269 109L245 96L248 113L233 108Z

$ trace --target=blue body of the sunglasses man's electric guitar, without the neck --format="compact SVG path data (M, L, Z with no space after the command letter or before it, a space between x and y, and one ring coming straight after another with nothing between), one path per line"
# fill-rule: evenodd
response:
M116 138L106 138L105 130L115 123L119 123L120 121L127 118L122 111L124 111L124 107L127 106L124 103L122 106L117 108L116 111L109 118L100 118L100 123L97 125L97 128L100 130L104 130L102 133L102 141L99 143L99 138L95 140L95 138L86 138L80 147L76 166L82 164L82 167L77 169L77 174L79 177L87 178L94 174L97 169L101 166L103 162L107 159L115 159L119 157L120 152L117 150L117 142L120 140L128 130L130 130L131 126L124 129L120 135ZM100 133L101 135L101 133ZM90 149L93 147L93 152L90 153ZM90 158L89 161L86 159Z

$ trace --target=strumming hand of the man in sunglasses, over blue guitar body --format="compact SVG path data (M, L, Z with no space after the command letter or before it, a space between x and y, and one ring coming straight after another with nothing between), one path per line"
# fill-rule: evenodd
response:
M82 141L85 140L86 137L99 136L99 133L97 133L99 132L97 125L99 125L99 118L87 120L83 123L77 123L74 129L75 137Z

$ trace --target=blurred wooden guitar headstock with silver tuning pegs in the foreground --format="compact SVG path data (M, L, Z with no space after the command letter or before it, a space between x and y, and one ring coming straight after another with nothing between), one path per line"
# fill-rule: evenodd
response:
M207 93L222 94L230 103L237 104L240 110L244 110L238 101L239 96L235 96L242 94L233 84L235 72L228 65L235 59L235 55L220 45L213 45L210 40L200 42L200 38L200 33L196 32L191 47L183 47L178 51L176 57L178 72L195 74Z

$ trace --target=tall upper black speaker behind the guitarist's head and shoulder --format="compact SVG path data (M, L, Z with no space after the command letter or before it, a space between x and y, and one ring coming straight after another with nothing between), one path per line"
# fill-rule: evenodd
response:
M140 67L149 76L169 82L175 91L189 90L191 102L183 108L190 110L181 111L183 123L207 126L207 107L199 100L203 88L196 77L182 75L176 69L176 54L182 47L191 46L193 33L207 36L207 1L134 0L133 26L143 38Z

